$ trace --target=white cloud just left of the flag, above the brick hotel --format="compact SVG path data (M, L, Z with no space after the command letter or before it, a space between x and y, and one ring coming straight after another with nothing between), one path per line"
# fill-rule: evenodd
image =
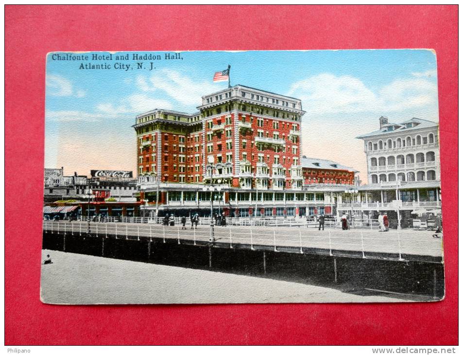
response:
M186 106L201 105L201 96L218 91L220 87L206 80L193 80L178 71L162 69L148 80L140 76L137 84L142 91L162 90L175 101Z

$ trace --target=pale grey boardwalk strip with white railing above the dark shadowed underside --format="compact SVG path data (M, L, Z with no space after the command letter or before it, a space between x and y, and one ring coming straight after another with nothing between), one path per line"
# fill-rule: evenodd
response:
M140 223L44 222L44 231L52 233L114 236L116 238L177 240L179 244L209 242L210 227L182 230L180 225L165 227ZM440 262L443 257L442 239L433 238L432 231L402 230L326 230L304 227L214 227L215 246L226 248L273 249L275 251L352 253L363 258L386 255L404 259L413 256L430 257ZM341 254L340 254L341 253Z

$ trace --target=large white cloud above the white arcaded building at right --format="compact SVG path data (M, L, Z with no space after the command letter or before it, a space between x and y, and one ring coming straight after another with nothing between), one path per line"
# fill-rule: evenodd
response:
M437 86L425 78L397 79L377 93L360 79L322 73L294 83L288 93L309 114L391 112L437 105Z

